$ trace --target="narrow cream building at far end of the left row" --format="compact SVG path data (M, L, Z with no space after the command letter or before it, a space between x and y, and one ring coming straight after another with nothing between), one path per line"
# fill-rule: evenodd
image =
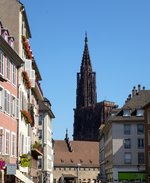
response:
M52 119L55 118L51 103L44 98L39 105L39 138L43 146L43 158L39 158L39 165L42 171L42 182L53 182L53 160L54 149L52 139Z

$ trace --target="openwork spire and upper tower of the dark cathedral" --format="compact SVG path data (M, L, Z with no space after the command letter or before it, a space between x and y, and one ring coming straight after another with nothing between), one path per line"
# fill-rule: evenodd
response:
M88 38L85 34L83 57L80 73L77 73L76 107L88 107L95 105L96 95L96 73L92 72L92 65L88 49Z

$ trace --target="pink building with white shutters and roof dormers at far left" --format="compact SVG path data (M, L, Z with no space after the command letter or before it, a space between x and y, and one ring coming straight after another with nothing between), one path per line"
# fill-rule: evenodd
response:
M0 23L0 156L1 171L6 164L16 165L19 118L18 69L22 59L14 50L14 38ZM13 181L12 176L1 176L2 181Z

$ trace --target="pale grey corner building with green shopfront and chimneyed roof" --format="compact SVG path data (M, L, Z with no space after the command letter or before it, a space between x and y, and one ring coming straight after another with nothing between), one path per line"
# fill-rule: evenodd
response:
M126 104L112 111L100 127L100 178L103 181L145 182L145 129L143 107L150 90L133 89Z

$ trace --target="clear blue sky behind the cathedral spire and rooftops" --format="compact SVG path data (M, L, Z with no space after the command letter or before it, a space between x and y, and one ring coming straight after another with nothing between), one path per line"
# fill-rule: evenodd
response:
M41 86L56 116L53 138L72 139L76 74L88 34L97 101L124 104L133 86L150 89L149 0L22 0Z

